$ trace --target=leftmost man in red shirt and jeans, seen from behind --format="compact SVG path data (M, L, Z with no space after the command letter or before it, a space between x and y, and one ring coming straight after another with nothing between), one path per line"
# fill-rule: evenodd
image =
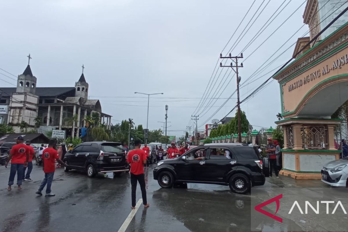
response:
M23 144L23 137L18 136L16 139L17 144L14 145L10 151L10 154L5 163L7 168L8 162L11 160L10 177L8 178L8 191L11 191L11 185L13 185L15 176L17 173L17 186L18 189L22 189L22 178L24 166L26 167L29 160L29 150L25 144Z

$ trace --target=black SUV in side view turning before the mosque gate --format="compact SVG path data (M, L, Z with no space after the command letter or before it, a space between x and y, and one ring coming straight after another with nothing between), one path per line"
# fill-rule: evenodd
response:
M237 143L199 145L179 158L162 160L153 170L153 178L165 188L174 183L220 184L242 194L265 182L258 150Z

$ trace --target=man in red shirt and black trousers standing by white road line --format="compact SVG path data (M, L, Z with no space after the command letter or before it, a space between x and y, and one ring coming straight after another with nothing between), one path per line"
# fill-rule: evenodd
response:
M137 182L139 182L140 184L144 208L147 208L150 205L148 204L146 199L145 177L143 168L143 165L147 162L147 157L144 150L140 149L141 141L139 139L136 139L134 141L134 145L135 149L130 151L127 157L127 162L130 163L130 184L132 185L132 209L135 209L135 193Z

